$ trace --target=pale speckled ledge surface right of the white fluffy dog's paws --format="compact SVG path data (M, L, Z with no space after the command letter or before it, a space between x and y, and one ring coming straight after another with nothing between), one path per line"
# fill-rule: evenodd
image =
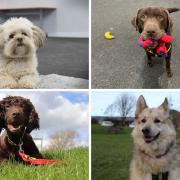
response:
M87 89L89 81L57 74L40 75L38 89Z

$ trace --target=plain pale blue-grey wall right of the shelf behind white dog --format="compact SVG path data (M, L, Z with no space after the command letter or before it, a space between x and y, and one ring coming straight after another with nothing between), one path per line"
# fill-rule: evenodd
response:
M88 3L88 0L57 0L57 10L45 13L44 28L51 36L88 37Z

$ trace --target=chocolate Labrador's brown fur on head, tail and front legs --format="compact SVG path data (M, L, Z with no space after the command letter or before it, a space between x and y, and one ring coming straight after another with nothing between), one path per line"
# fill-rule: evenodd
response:
M162 8L162 7L147 7L139 9L137 15L133 17L131 23L132 25L146 37L152 37L153 39L160 39L164 33L171 35L173 21L170 17L170 13L179 11L178 8ZM170 48L172 44L166 44L167 49ZM149 51L146 51L147 58L148 58L148 66L153 66L152 57L155 56L155 47L152 48L153 54ZM171 50L168 52L168 56L165 58L166 61L166 72L168 77L173 75L171 71Z

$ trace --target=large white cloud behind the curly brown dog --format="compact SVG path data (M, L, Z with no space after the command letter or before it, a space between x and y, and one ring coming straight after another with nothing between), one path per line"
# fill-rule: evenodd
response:
M88 133L89 105L86 103L72 103L58 91L1 91L0 99L7 95L20 95L31 100L40 118L40 131L33 131L33 135L43 137L46 144L48 136L56 131L72 129Z

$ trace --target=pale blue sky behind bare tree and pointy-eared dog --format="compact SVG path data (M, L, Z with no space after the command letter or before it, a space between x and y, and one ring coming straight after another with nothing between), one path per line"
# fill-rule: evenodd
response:
M172 90L124 90L124 91L92 91L91 98L91 114L94 116L104 115L106 107L113 103L118 95L123 93L133 94L137 100L140 95L143 95L146 99L146 103L149 107L159 106L165 99L165 97L172 99L172 108L180 111L180 91ZM135 108L133 109L132 116L134 115Z

